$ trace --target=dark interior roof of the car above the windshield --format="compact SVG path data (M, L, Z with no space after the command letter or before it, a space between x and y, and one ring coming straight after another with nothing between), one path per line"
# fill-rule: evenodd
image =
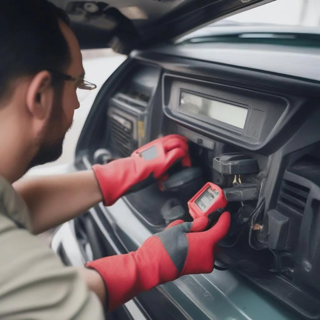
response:
M68 12L82 49L128 54L274 0L50 1Z

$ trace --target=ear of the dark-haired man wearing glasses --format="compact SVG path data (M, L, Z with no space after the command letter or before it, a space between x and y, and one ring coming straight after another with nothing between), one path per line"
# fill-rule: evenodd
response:
M51 74L41 71L34 76L28 86L26 102L31 116L38 124L46 123L51 114L54 89L51 85Z

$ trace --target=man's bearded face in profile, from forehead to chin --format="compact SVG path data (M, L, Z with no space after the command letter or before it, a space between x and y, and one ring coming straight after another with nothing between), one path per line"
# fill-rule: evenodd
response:
M77 78L84 73L79 44L67 25L61 22L60 28L71 54L71 64L65 73ZM71 128L74 110L80 106L76 95L77 86L76 81L63 81L62 87L55 90L52 112L38 137L38 151L29 163L28 169L53 162L62 155L63 141Z

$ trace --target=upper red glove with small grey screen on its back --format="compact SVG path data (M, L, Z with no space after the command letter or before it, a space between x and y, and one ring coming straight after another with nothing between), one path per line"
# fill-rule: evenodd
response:
M168 135L149 142L130 157L93 165L104 204L114 204L126 193L140 190L162 179L162 175L178 160L181 160L182 165L190 166L187 141L177 134ZM150 159L150 155L156 157Z

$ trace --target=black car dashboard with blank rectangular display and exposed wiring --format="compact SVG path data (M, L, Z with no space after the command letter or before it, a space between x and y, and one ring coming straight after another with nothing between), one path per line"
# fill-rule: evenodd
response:
M277 73L258 62L224 64L176 48L134 52L103 93L99 148L120 158L162 135L188 138L201 172L192 173L191 184L166 192L151 186L124 198L153 232L170 222L162 212L173 212L169 200L181 204L188 220L186 200L205 182L258 188L256 198L232 203L231 231L217 260L221 266L250 261L237 272L303 318L320 319L320 83L314 73ZM213 162L226 154L254 159L257 169L239 177L218 172Z

